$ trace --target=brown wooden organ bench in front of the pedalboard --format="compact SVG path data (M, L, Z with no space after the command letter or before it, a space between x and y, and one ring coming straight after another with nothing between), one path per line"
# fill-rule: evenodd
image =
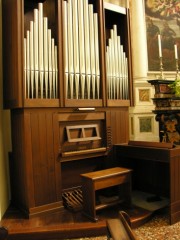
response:
M97 221L96 211L125 202L131 205L131 169L115 167L81 174L83 213ZM123 185L123 186L122 186ZM117 200L96 205L96 190L119 186Z

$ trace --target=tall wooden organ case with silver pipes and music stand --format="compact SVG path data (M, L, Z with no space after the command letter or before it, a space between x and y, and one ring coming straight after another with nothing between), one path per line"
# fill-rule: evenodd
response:
M129 9L114 2L2 1L12 202L27 217L62 208L64 189L128 141Z

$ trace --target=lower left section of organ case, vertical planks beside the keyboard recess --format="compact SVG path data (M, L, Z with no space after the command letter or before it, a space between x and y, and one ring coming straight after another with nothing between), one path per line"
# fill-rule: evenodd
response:
M61 200L61 172L58 152L54 152L54 141L58 139L58 132L53 131L54 112L14 110L12 129L13 200L27 214L47 204L57 207L55 203Z

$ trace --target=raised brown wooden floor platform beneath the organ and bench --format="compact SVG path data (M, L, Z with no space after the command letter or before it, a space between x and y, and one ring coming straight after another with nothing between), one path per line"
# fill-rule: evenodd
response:
M125 210L132 227L142 225L152 216L152 212L137 207L125 209L115 206L97 212L98 221L92 222L82 211L72 212L65 208L56 213L25 219L16 208L8 209L0 225L8 229L8 240L57 240L107 235L106 220L117 218Z

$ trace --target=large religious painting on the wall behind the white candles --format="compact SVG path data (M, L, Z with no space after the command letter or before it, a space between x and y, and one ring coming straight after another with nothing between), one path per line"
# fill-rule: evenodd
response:
M180 1L144 0L148 70L159 71L158 34L161 35L164 71L176 71L175 50L180 58ZM180 64L180 61L179 61Z

